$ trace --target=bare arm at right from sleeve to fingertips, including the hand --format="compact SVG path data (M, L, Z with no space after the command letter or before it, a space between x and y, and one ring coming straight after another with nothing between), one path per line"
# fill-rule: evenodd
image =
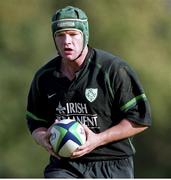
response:
M147 126L137 125L127 119L123 119L119 124L99 134L95 134L87 126L84 126L87 141L73 153L72 158L78 158L88 154L99 146L134 136L144 131L146 128Z

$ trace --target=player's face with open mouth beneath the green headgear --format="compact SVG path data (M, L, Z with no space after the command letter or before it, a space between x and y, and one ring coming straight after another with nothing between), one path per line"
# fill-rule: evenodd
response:
M55 42L60 55L67 60L74 60L77 58L83 49L83 35L77 30L57 33Z

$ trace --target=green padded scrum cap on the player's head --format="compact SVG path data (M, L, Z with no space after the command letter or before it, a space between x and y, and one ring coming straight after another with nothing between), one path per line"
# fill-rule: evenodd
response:
M88 44L89 28L86 14L79 8L67 6L59 9L52 17L52 33L65 30L79 30L83 33L84 47Z

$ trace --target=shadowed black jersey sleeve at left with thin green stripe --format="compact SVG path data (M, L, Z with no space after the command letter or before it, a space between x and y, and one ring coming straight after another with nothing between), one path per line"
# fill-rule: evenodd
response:
M32 81L28 94L26 119L31 133L39 127L49 127L46 99L39 90L39 82L36 77Z

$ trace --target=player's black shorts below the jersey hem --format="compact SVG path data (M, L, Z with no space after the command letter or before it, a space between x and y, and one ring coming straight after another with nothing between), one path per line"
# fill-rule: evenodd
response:
M45 178L134 178L133 158L75 162L60 160L48 165Z

